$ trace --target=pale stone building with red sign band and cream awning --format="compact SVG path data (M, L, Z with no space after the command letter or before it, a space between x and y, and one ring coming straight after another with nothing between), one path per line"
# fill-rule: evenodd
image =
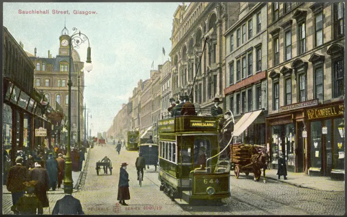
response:
M225 34L226 107L236 123L234 142L265 146L267 4L240 4Z

